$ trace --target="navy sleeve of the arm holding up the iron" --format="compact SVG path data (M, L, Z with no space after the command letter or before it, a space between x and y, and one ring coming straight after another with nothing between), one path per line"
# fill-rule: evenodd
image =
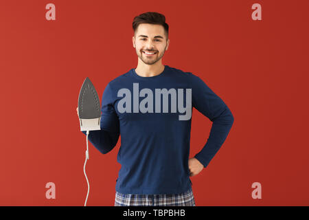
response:
M113 104L113 90L108 83L102 96L101 121L98 131L89 131L88 140L101 153L113 150L119 139L119 119ZM82 131L87 135L86 131Z

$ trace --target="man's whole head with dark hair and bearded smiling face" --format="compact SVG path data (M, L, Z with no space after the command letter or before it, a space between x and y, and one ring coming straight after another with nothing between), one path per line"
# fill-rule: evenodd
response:
M168 50L168 24L163 14L146 12L133 19L133 47L137 56L147 65L160 61L165 50ZM145 52L155 52L147 55Z

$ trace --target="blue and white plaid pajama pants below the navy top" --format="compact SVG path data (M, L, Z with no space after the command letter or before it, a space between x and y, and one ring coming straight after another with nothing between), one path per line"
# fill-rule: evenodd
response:
M192 188L180 194L135 195L116 191L115 206L196 206Z

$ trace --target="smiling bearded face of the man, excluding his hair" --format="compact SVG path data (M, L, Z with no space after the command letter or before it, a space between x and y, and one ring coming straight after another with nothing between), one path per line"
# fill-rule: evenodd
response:
M137 56L147 65L157 63L163 57L165 50L168 50L169 44L170 40L166 41L162 25L141 23L133 36L133 47ZM145 52L155 54L148 55Z

